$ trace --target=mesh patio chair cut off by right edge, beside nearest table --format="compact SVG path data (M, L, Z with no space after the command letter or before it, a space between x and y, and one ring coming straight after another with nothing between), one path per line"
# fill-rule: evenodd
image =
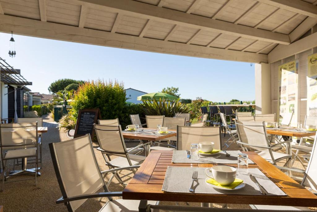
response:
M312 148L312 153L310 160L308 162L306 170L301 170L297 168L286 168L279 167L282 170L289 170L304 174L304 177L301 181L301 185L308 187L310 191L317 191L317 145L316 137L314 139L314 146ZM315 194L316 195L316 194ZM309 210L306 207L292 207L292 206L271 206L271 205L250 205L252 209L266 209L266 210L275 210L275 209L288 209L288 210Z

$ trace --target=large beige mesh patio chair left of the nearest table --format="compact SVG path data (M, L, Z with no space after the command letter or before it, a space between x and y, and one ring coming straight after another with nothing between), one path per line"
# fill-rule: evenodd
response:
M64 203L68 211L73 212L88 198L107 197L109 201L100 209L101 212L138 211L140 201L112 198L122 196L122 192L109 192L100 174L89 134L72 140L50 143L49 149L62 194L56 201L57 204ZM139 166L129 168L134 169ZM116 168L104 173L122 169ZM101 189L104 192L97 193Z

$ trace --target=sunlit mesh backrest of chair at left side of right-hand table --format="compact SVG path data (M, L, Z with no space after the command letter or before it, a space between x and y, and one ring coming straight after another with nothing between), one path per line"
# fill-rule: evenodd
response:
M267 138L265 122L256 121L242 121L236 120L236 128L239 137L239 141L253 145L268 147L269 141ZM248 145L244 145L247 147ZM252 147L253 148L253 147ZM258 150L263 150L261 148L255 148Z

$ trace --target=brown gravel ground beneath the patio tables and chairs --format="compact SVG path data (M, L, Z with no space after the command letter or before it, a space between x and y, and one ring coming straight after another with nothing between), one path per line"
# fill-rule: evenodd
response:
M53 122L49 116L43 117L45 122ZM226 136L227 140L228 136ZM55 201L61 197L61 191L58 186L55 171L52 165L51 156L49 153L49 143L59 142L69 140L66 132L58 131L53 127L50 127L47 133L43 134L43 168L41 169L42 176L38 177L37 187L35 187L34 180L28 181L18 181L6 183L4 185L4 191L0 192L0 205L3 205L3 209L6 212L9 211L67 211L63 204L56 204ZM223 139L224 140L224 139ZM134 147L139 142L126 142L127 147ZM100 165L101 170L107 170L105 166L104 159L99 151L96 150L97 144L94 143L95 153L97 161ZM239 147L235 144L230 146L230 150L238 150ZM34 164L29 164L28 168L33 168ZM12 162L9 163L7 167L12 169ZM296 168L302 168L299 162L294 164ZM16 167L19 169L21 167ZM122 174L127 173L127 171L122 172ZM110 177L110 175L108 175ZM28 177L33 177L33 175L20 175L9 180L15 179L26 179ZM131 179L132 174L123 178L125 183L128 183ZM9 181L8 180L8 181ZM107 178L105 179L107 181ZM109 186L110 191L122 191L123 187L120 183L113 179ZM100 208L108 201L107 198L103 198L101 202L98 198L88 199L79 209L76 211L99 211ZM174 205L175 202L160 202L160 204ZM180 205L185 205L185 203L180 202ZM190 203L192 206L200 206L200 203ZM221 204L214 204L214 207L221 207ZM234 205L229 204L229 208L240 208L247 209L250 208L249 205Z

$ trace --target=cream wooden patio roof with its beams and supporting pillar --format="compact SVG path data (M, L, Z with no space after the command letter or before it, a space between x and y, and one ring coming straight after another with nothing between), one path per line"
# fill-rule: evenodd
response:
M316 4L316 0L0 0L0 31L257 63L256 108L271 113L276 98L271 95L271 86L276 89L271 85L271 65L317 47Z

